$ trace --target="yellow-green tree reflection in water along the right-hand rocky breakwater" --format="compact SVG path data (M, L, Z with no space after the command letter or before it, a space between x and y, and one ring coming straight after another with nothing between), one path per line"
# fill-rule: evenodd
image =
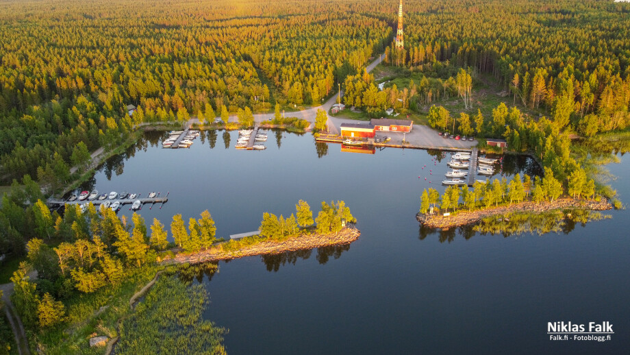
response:
M609 215L603 215L601 212L593 212L588 210L572 210L570 212L551 211L544 213L511 213L508 215L499 215L488 217L475 225L466 225L459 228L450 228L449 230L440 230L438 228L428 228L420 225L418 238L420 241L425 240L427 236L438 234L440 243L451 243L456 236L463 236L466 240L477 234L480 235L503 235L505 238L509 236L518 236L520 234L546 234L550 232L569 234L577 225L584 227L590 221L599 221L601 219L610 218Z

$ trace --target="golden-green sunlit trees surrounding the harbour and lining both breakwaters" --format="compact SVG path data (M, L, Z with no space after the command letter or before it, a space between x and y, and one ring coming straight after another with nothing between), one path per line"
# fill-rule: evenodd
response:
M418 0L404 6L405 48L396 49L398 1L1 2L0 183L14 186L0 204L0 254L27 258L14 268L13 281L31 347L90 352L80 343L92 330L88 315L113 297L119 304L105 313L103 328L114 336L112 325L134 288L161 268L168 241L157 219L147 228L139 215L127 222L93 206L51 214L40 188L66 187L77 177L71 167L85 166L91 152L113 149L143 124L274 110L279 117L280 108L320 105L340 85L344 103L366 115L392 107L423 115L421 123L436 129L502 137L544 166L544 180L533 184L517 175L492 188L476 184L470 194L465 188L468 208L527 195L554 199L564 190L591 196L602 188L584 169L588 154L572 151L571 138L630 126L630 4ZM364 69L379 56L381 71L404 85L379 90L386 79ZM489 110L477 95L488 82L505 93ZM449 98L461 100L462 109L444 107ZM128 105L138 110L130 115ZM318 114L319 124L324 119ZM459 206L456 190L444 193L442 208ZM424 195L426 212L440 196ZM312 216L304 217L310 210L301 215L301 207L297 219L265 215L263 234L284 238L298 225L312 225ZM337 231L342 216L351 221L345 210L340 202L323 204L315 221L327 230L320 232ZM181 215L171 223L175 245L186 252L210 247L215 230L207 211L191 218L188 230ZM33 269L38 280L27 276ZM160 281L160 292L171 282ZM179 292L181 299L194 293L199 304L206 297ZM135 334L157 310L140 308L122 334ZM63 326L72 324L79 330L66 336ZM212 331L221 353L223 332ZM206 345L201 338L199 344ZM121 346L135 350L125 341Z

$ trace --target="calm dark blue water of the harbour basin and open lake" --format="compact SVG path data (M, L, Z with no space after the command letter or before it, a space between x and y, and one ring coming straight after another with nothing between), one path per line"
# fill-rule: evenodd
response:
M162 149L162 134L147 134L84 188L168 191L162 209L140 212L147 225L207 209L217 236L256 230L263 212L286 217L299 199L315 214L321 201L346 202L362 232L355 243L221 262L212 280L200 277L210 292L205 316L229 328L229 354L627 354L627 210L568 234L420 238L420 193L444 190L448 157L353 154L283 132L270 132L264 151L237 151L236 132L226 135L229 149L224 132L190 149ZM609 169L625 177L621 160ZM504 165L538 172L525 158ZM630 201L627 182L612 184ZM550 321L609 321L616 334L606 343L550 341Z

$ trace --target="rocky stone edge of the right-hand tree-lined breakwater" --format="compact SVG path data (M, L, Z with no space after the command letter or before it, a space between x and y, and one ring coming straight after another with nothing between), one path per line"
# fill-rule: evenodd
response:
M564 197L556 199L555 201L523 201L518 204L512 204L507 206L497 206L492 208L482 208L480 210L459 210L455 215L444 216L442 214L429 213L423 214L418 212L416 214L416 220L420 224L429 228L449 229L454 227L462 227L464 225L470 225L480 222L486 217L494 215L503 215L511 212L549 212L552 210L562 209L579 209L579 210L594 210L603 211L612 209L612 204L607 199L601 201L587 200L587 199L572 199L570 197Z

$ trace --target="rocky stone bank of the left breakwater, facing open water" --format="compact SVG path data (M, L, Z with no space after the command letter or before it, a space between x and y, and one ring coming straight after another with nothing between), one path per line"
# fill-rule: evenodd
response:
M253 245L247 245L242 249L232 252L224 252L220 245L201 252L184 254L179 253L173 258L163 260L165 265L171 264L200 264L202 262L214 262L221 260L232 260L245 256L273 255L285 252L295 252L303 249L314 249L318 247L329 247L331 245L344 245L356 241L361 232L354 227L346 227L336 234L301 234L292 236L283 241L261 241Z

